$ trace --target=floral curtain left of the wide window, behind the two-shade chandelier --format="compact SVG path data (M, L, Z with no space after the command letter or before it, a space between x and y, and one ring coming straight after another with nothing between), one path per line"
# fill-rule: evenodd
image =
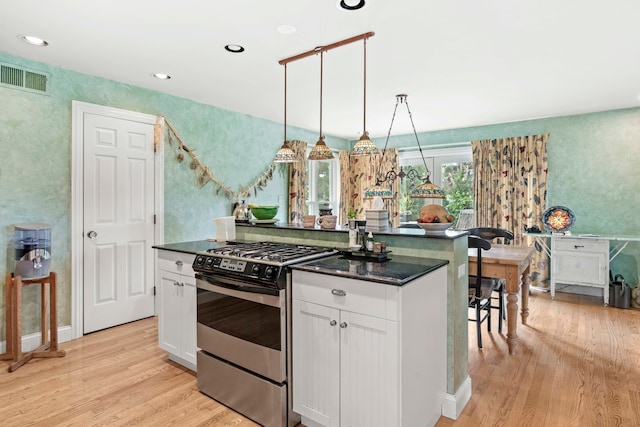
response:
M382 163L380 160L383 158ZM364 219L365 210L371 209L372 200L363 200L364 191L375 185L376 174L386 174L391 169L398 169L398 150L396 148L386 149L384 154L371 156L349 156L349 152L340 151L340 224L347 221L347 211L352 207L356 211L356 218ZM399 182L394 181L389 184L394 194L393 199L384 201L385 208L389 211L389 225L397 227L398 218L398 192Z

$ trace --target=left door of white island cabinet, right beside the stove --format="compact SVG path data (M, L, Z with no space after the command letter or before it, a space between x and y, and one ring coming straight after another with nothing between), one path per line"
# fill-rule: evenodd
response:
M340 425L340 311L293 300L293 410Z

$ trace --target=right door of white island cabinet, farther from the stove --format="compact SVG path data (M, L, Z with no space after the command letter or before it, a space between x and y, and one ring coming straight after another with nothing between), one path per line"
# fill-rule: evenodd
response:
M398 425L398 322L340 312L340 425Z

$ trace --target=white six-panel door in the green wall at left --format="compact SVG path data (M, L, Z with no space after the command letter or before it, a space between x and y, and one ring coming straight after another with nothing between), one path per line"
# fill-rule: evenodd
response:
M154 315L153 125L85 113L84 333Z

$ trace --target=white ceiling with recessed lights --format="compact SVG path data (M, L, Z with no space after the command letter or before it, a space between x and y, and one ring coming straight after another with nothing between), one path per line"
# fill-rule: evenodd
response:
M337 3L0 0L0 51L282 122L278 61L372 31L372 137L387 134L398 93L409 95L418 132L640 105L640 2L367 0L358 11ZM281 24L297 31L279 34ZM50 44L30 46L20 34ZM228 53L229 43L246 50ZM325 134L362 132L363 71L361 41L324 54ZM288 124L318 131L319 56L291 62L287 74ZM409 132L403 110L392 134Z

